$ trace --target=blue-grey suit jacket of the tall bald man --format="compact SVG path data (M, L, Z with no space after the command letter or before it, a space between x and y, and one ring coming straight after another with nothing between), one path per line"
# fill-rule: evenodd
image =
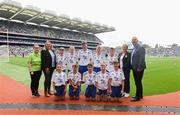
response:
M137 48L135 49L132 55L132 68L134 70L140 69L143 70L146 68L145 63L145 49L141 45L137 44Z

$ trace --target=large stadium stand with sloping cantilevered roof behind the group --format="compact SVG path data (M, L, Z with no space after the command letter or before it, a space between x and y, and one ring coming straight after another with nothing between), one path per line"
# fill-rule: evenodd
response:
M57 15L34 6L22 7L19 2L5 0L0 3L0 44L10 46L44 45L52 41L54 47L81 47L86 40L90 49L103 42L95 34L115 31L114 27ZM8 36L8 41L7 41Z

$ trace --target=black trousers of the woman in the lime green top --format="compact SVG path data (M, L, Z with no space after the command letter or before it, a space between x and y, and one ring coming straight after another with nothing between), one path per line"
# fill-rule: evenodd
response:
M31 76L31 92L32 95L35 95L38 93L38 88L39 88L39 80L41 78L42 71L33 71L33 75L30 74Z

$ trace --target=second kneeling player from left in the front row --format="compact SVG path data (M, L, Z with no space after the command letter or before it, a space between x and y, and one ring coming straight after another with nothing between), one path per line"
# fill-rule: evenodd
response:
M77 71L77 64L72 65L72 71L68 74L70 100L79 100L81 91L81 74Z

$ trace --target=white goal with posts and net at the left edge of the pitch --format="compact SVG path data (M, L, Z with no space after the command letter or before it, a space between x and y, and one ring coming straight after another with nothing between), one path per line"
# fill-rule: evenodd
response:
M2 39L0 39L2 40ZM9 62L9 32L6 30L6 40L0 44L0 62Z

